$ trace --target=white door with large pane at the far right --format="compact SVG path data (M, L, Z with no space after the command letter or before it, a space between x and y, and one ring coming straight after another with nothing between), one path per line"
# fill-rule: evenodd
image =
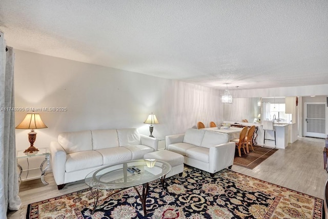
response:
M305 136L326 137L326 104L305 103Z

